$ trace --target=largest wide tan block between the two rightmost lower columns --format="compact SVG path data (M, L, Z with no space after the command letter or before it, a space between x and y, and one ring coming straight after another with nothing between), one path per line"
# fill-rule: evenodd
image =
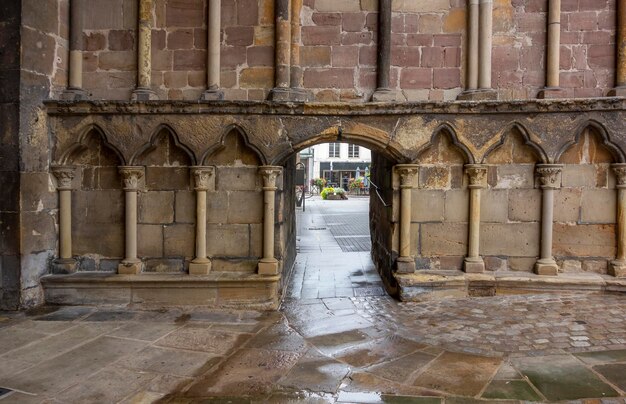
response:
M615 226L554 224L553 253L564 257L614 257Z

